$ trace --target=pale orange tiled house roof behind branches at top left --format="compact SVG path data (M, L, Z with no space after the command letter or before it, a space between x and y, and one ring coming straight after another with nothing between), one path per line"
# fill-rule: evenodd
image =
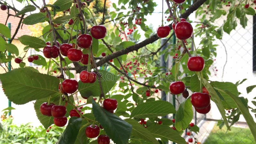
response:
M9 10L10 14L15 15L15 12L13 10ZM7 10L0 11L0 23L5 24L6 18L7 18ZM18 27L18 24L20 22L20 18L9 16L7 23L11 23L11 36L15 33L16 28ZM7 25L7 24L6 24ZM31 31L28 29L28 25L22 24L20 25L20 29L17 33L17 35L14 37L15 39L18 39L18 37L23 35L30 35Z

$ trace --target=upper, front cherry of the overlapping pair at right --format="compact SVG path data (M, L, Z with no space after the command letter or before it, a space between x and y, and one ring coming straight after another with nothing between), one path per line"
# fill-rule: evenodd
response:
M210 105L210 96L207 93L194 92L190 100L192 105L198 109L206 108Z

